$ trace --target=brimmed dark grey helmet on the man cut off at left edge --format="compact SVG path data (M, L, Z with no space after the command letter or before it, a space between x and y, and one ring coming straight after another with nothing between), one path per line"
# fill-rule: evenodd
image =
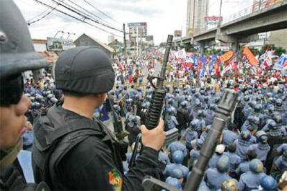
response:
M47 65L35 52L26 21L13 1L0 1L0 78Z

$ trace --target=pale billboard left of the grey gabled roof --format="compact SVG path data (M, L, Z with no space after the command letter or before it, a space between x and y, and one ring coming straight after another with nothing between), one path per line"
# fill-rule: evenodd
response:
M60 39L47 37L47 50L48 51L66 51L69 48L73 48L72 39Z

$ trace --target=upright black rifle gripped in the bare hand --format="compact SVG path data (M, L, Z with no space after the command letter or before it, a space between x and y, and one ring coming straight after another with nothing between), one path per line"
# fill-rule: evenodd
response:
M166 89L164 89L164 80L166 79L166 66L168 63L168 56L171 50L171 44L173 43L173 35L168 35L166 41L166 51L164 52L164 62L162 64L162 71L158 77L148 76L148 81L153 86L154 91L150 102L150 107L148 109L148 117L144 119L144 123L148 129L154 129L157 127L159 118L162 116L162 107L164 106L164 98L166 96ZM153 80L157 79L157 84L153 84ZM168 145L177 139L178 130L176 128L166 131L166 141L164 145ZM136 143L134 145L134 150L132 151L132 158L130 160L130 165L134 165L134 161L137 155L137 150L139 147L139 142L141 140L141 134L137 136Z

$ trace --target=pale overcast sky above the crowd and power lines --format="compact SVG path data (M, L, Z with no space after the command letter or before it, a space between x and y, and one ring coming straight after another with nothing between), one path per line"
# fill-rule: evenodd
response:
M52 7L57 5L53 0L40 1L49 4ZM154 35L155 44L165 42L167 35L173 34L174 30L183 30L184 34L186 30L187 0L86 0L117 22L101 14L101 12L98 12L98 10L85 3L84 0L61 1L69 3L69 5L74 7L76 6L73 3L77 3L79 6L89 10L97 17L101 17L101 19L108 22L109 25L116 26L116 28L120 29L122 29L123 23L147 22L148 35ZM218 15L219 2L219 0L209 0L211 5L209 15ZM252 2L252 0L223 0L223 17L232 14L232 12L238 11L239 8L247 6L250 2ZM34 0L15 0L15 3L19 6L26 21L35 21L40 19L40 17L51 10L40 5ZM56 8L79 17L61 6L57 6ZM44 14L40 15L42 12L44 12ZM40 16L36 17L37 15ZM95 25L98 26L98 24ZM76 33L76 35L70 37L71 39L76 39L82 35L82 33L86 33L87 35L91 35L92 37L99 39L101 42L107 43L107 36L110 35L94 28L93 26L84 24L81 21L76 21L76 19L63 15L55 10L53 10L53 12L44 19L31 24L29 29L31 31L32 38L35 39L53 37L58 30L64 30L65 32ZM126 27L126 29L128 28ZM112 30L109 31L112 32ZM116 37L117 39L122 39L122 33L113 33L120 36ZM58 35L58 37L60 37L60 35ZM64 37L67 37L67 35Z

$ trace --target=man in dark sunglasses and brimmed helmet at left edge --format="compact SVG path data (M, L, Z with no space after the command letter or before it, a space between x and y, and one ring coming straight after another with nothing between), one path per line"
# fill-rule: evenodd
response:
M45 66L15 3L0 1L0 190L49 190L43 182L27 184L17 159L31 104L24 95L21 73Z

